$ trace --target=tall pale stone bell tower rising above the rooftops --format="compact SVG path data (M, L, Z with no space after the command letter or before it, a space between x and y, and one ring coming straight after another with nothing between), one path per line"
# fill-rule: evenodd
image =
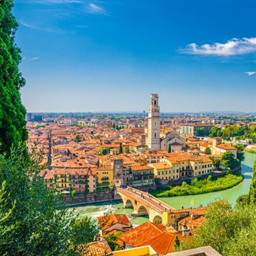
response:
M148 110L148 148L160 149L160 108L158 94L151 94L151 103Z

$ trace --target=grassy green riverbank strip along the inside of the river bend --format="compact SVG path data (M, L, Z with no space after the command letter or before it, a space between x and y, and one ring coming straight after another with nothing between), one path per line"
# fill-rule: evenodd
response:
M154 197L179 197L188 195L206 194L215 191L227 190L235 187L243 180L242 175L227 174L221 178L209 178L197 180L194 178L190 184L183 182L180 186L169 187L167 190L151 192Z

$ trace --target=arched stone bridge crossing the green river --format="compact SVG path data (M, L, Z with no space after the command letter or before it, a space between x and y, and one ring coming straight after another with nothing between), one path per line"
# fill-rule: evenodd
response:
M123 200L123 208L133 208L133 216L148 215L149 221L166 225L174 208L151 196L147 192L133 187L117 187L117 194Z

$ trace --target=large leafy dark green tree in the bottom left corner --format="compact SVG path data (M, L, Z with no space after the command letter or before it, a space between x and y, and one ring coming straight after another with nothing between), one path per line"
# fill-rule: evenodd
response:
M47 190L39 172L42 155L24 157L26 148L0 155L0 183L6 181L10 195L6 207L16 202L8 226L16 224L8 245L0 251L10 255L54 255L69 251L71 224L75 215L64 206L61 195Z

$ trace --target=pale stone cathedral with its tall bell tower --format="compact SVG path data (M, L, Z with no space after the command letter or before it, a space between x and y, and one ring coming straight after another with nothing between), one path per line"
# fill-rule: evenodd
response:
M181 151L185 148L185 139L175 131L160 133L160 107L157 93L151 94L148 109L148 136L147 145L151 150Z

